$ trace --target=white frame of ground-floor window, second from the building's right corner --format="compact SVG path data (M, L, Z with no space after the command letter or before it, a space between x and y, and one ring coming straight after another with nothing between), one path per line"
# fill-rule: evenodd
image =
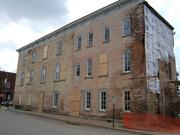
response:
M102 93L106 93L106 98L103 101L102 101ZM104 108L104 105L102 106L102 102L105 102L105 108ZM106 110L107 110L107 91L101 90L99 92L99 111L106 112Z

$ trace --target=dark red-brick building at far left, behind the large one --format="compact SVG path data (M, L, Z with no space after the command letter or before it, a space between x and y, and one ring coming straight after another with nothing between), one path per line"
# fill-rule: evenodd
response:
M13 101L16 74L0 71L0 103L2 101Z

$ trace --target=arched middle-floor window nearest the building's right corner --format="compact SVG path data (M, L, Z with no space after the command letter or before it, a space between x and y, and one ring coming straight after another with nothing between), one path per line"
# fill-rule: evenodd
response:
M128 49L123 54L123 72L131 71L131 51Z

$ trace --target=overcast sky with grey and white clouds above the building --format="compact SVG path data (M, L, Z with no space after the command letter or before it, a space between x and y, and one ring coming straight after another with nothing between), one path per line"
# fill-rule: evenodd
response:
M0 0L0 70L16 72L16 49L116 0ZM175 28L180 71L180 1L147 0Z

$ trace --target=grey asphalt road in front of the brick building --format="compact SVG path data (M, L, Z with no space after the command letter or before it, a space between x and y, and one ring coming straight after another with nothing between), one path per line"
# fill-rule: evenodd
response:
M70 125L56 120L0 110L0 135L132 135L132 133Z

